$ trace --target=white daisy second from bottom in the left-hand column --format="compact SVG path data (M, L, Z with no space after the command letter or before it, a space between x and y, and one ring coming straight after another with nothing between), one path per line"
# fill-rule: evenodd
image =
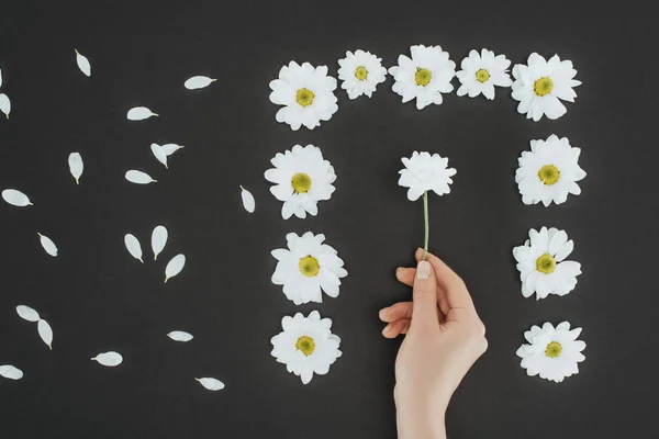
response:
M306 232L302 236L290 233L286 236L288 249L272 250L277 267L272 283L283 285L283 294L295 305L323 302L323 293L338 296L340 278L348 275L344 261L336 250L323 244L325 235Z

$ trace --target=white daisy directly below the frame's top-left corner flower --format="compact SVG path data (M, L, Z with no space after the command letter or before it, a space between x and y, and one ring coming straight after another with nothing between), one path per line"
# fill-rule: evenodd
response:
M275 169L268 169L265 177L276 184L270 188L272 195L283 201L284 219L292 215L305 218L308 213L315 216L317 202L330 200L336 189L332 185L336 180L334 168L316 146L295 145L292 150L278 153L270 162Z

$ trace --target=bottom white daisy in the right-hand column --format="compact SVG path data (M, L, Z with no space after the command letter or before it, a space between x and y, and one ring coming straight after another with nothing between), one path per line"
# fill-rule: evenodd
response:
M579 373L579 365L585 357L581 351L585 342L577 340L581 328L570 330L570 324L561 323L556 328L550 323L543 328L533 326L524 333L530 345L522 345L517 356L522 358L522 368L529 376L537 374L545 380L560 383L566 376Z

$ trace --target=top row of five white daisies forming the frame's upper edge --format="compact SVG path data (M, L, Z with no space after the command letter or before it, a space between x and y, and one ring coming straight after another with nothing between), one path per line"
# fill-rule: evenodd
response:
M476 98L483 94L494 99L495 87L512 88L512 97L517 100L517 111L527 119L539 121L544 115L556 120L566 114L562 101L574 102L573 88L581 82L574 79L577 70L572 61L561 60L558 55L549 60L537 53L530 54L526 64L513 67L514 81L509 75L511 60L505 55L495 55L487 48L471 50L462 59L461 70L456 71L456 63L449 59L442 46L416 45L410 47L410 55L400 55L398 66L389 69L394 79L392 90L402 97L403 102L416 100L422 110L431 104L442 104L443 93L454 90L451 80L460 81L458 95ZM349 99L371 97L379 83L384 82L388 70L382 59L370 52L346 52L338 60L338 78ZM327 75L327 66L314 67L309 63L301 66L290 61L281 67L279 78L270 82L270 101L282 105L277 112L277 122L287 123L293 131L305 126L313 130L321 121L328 121L338 111L335 78Z

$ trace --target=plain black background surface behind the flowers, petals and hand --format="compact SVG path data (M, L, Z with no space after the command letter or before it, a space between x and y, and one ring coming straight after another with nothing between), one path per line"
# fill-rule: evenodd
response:
M585 4L588 3L588 4ZM654 36L652 36L654 35ZM0 203L2 438L392 438L393 362L377 312L410 291L394 268L413 263L422 203L396 185L400 158L437 151L458 170L431 198L431 248L467 281L490 348L453 398L454 438L655 437L657 389L657 50L650 14L574 1L2 1L0 189L34 207ZM532 52L572 59L583 86L558 121L526 120L510 90L494 101L445 97L417 111L391 91L349 101L320 128L278 124L268 82L291 59L328 65L368 49L390 67L413 44L440 44L458 65L488 47L515 63ZM76 66L74 48L92 64ZM217 78L188 91L193 75ZM454 80L454 83L458 83ZM457 87L456 87L457 88ZM126 121L146 105L160 117ZM582 148L582 195L527 206L514 182L528 140L550 134ZM179 143L170 169L150 143ZM338 176L306 219L280 216L263 172L294 144L320 146ZM81 153L77 187L67 157ZM158 183L123 179L142 169ZM257 199L243 211L238 184ZM148 257L154 226L170 240ZM530 227L565 228L583 274L574 292L536 302L520 293L511 249ZM51 258L36 232L52 237ZM270 283L270 250L289 232L324 233L349 275L338 299L294 306ZM135 234L145 264L123 246ZM183 272L163 284L166 261ZM55 331L54 349L19 304ZM303 386L270 357L283 315L319 309L342 337L340 358ZM581 372L555 384L527 378L515 350L530 325L569 320L587 341ZM189 344L165 335L190 331ZM118 350L124 363L89 361ZM208 392L194 376L216 376Z

